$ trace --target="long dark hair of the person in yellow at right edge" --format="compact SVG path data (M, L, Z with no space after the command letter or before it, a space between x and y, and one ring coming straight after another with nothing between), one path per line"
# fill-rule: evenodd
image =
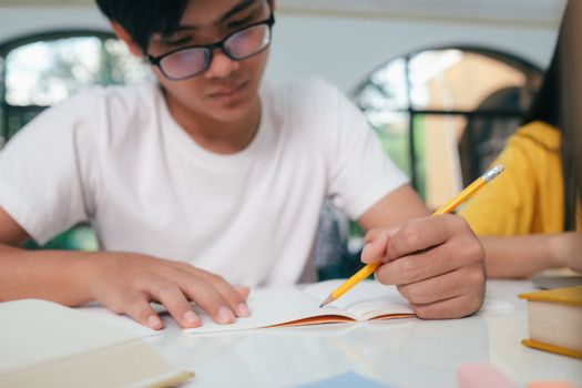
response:
M561 132L564 231L574 231L582 195L582 7L566 4L554 53L523 124L543 121Z

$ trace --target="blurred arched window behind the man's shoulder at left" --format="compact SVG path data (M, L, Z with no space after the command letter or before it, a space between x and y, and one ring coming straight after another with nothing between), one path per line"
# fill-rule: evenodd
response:
M0 43L0 149L42 110L84 88L149 76L109 32L55 31ZM92 251L96 238L89 225L78 225L45 247Z

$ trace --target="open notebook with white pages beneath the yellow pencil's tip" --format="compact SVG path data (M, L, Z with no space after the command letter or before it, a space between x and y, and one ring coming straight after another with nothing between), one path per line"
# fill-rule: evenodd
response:
M305 287L257 288L247 299L251 316L237 318L232 325L218 325L201 309L196 313L202 326L185 333L216 333L263 327L303 326L328 323L409 318L415 314L394 286L365 280L341 298L320 308L319 304L344 279L327 280ZM196 307L195 307L196 308Z

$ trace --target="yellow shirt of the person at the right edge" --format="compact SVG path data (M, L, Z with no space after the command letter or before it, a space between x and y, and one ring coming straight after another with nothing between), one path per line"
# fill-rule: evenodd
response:
M506 171L459 213L472 229L499 236L563 232L560 132L543 122L524 125L509 139L500 163ZM579 228L581 212L576 219Z

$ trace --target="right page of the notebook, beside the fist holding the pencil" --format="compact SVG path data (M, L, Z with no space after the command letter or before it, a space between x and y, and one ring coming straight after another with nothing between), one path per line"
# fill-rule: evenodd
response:
M304 290L319 300L324 300L327 295L344 282L345 279L320 282L308 285ZM376 280L358 283L328 306L324 307L323 310L340 308L356 317L357 320L413 316L408 302L398 293L395 286L385 286Z

